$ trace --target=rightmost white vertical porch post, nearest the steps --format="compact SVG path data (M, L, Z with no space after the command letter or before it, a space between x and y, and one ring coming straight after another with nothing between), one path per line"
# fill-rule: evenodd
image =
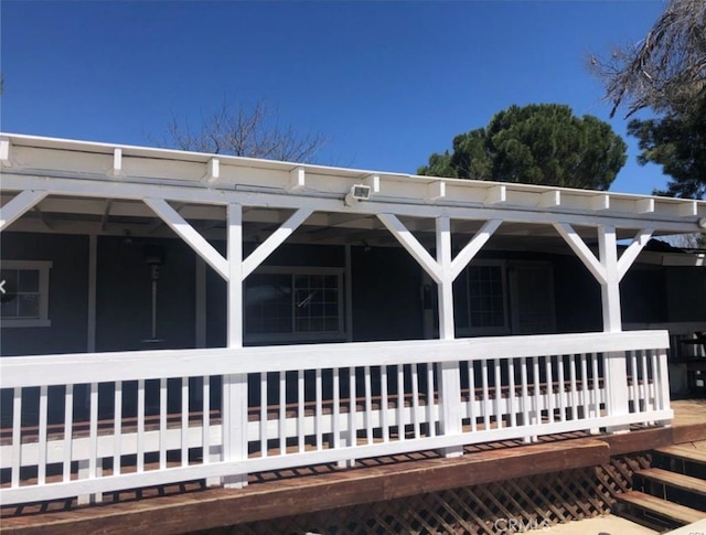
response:
M620 332L622 331L620 272L614 227L607 225L598 227L598 250L606 274L606 280L600 285L603 303L603 332ZM627 415L629 411L628 371L624 352L605 354L605 374L608 416ZM629 426L614 426L607 430L609 432L627 432Z

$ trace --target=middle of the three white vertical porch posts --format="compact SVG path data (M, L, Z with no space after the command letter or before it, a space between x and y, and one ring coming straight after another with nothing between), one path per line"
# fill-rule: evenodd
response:
M439 288L439 339L453 340L453 274L451 269L451 222L442 216L436 220L437 264L440 267ZM443 435L456 435L461 428L461 375L458 362L442 362L438 365L440 431ZM460 446L446 448L446 457L463 454Z

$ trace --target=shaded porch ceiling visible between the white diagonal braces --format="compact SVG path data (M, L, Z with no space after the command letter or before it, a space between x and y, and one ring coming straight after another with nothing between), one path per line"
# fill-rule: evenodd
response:
M4 205L14 196L2 193ZM225 206L197 203L171 203L184 220L208 239L225 239ZM291 210L244 208L244 238L261 242L290 215ZM430 217L403 216L400 221L422 243L434 243L435 221ZM451 222L454 235L474 235L484 221ZM587 243L596 239L596 228L575 225ZM10 227L17 232L55 232L63 234L105 234L118 236L174 237L173 232L142 201L87 199L76 195L49 195ZM620 238L632 238L633 229L620 229ZM314 212L290 238L296 243L394 245L398 242L373 214ZM563 246L564 240L550 224L505 222L495 232L491 246L537 250Z

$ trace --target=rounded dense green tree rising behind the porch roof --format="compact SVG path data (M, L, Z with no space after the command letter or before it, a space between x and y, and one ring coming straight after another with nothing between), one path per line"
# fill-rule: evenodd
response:
M627 146L610 125L558 104L511 106L485 128L453 138L419 174L607 190L625 163Z

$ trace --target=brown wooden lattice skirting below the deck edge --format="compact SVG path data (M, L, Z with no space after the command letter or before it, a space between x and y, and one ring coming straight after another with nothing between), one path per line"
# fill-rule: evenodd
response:
M650 454L371 504L239 524L222 534L510 534L610 512Z

